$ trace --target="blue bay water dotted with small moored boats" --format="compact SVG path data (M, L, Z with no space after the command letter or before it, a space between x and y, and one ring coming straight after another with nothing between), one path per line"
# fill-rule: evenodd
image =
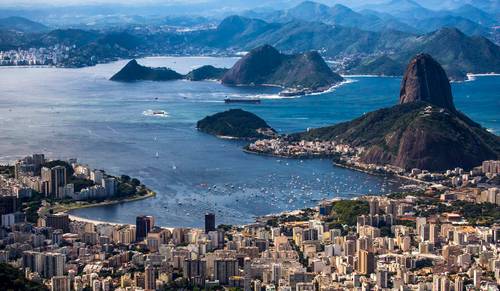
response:
M200 65L230 67L234 58L147 58L140 63L186 73ZM330 93L277 98L276 88L232 88L216 82L115 83L126 61L83 69L0 68L0 161L44 152L77 157L109 173L140 178L155 198L80 209L91 219L134 223L154 215L162 226L200 226L206 211L217 223L315 205L325 197L397 190L388 180L332 166L327 160L285 160L245 154L242 142L199 133L196 121L230 108L264 118L280 132L325 126L391 106L399 78L352 77ZM456 106L500 132L500 77L453 84ZM229 97L259 95L260 105L226 105ZM148 115L164 110L168 117ZM158 157L157 157L158 153Z

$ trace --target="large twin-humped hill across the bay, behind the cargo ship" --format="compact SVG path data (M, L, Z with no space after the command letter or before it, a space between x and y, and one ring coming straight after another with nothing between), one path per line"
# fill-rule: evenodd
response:
M224 75L222 83L322 91L342 80L317 52L286 55L270 45L263 45L241 58Z

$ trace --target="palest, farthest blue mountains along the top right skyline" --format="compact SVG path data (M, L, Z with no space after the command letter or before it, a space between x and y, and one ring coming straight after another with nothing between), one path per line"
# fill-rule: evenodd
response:
M335 4L305 1L285 10L251 10L242 14L268 22L286 23L293 20L323 22L331 25L355 27L362 30L382 31L394 29L410 33L426 33L442 27L455 27L468 35L493 37L500 16L488 13L470 4L452 10L430 10L410 0L365 5L353 9Z

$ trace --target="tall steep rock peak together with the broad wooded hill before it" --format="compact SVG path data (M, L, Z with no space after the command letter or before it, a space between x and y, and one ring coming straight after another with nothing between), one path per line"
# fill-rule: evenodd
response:
M427 55L408 65L399 105L293 138L364 147L364 162L404 169L470 169L500 158L500 137L455 110L444 70Z

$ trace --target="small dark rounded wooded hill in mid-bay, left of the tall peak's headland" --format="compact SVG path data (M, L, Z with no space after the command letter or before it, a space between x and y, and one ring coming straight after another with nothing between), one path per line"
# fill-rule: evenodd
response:
M276 133L263 119L241 109L207 116L198 121L196 128L219 137L240 139L266 138Z

